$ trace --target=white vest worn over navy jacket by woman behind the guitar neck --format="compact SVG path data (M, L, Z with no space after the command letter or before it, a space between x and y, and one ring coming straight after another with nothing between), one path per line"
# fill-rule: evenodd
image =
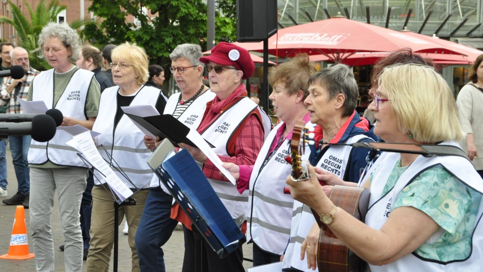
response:
M346 144L356 143L363 139L371 139L365 135L355 135L350 137ZM316 167L320 167L326 171L336 174L343 178L347 164L349 163L350 152L352 146L349 145L335 145L330 146L322 158L317 162ZM310 207L304 205L302 202L295 200L292 217L292 226L290 229L290 240L285 256L283 259L283 268L295 268L300 271L312 271L307 269L307 254L303 260L300 260L300 249L305 237L309 233L312 226L316 223L314 215Z

